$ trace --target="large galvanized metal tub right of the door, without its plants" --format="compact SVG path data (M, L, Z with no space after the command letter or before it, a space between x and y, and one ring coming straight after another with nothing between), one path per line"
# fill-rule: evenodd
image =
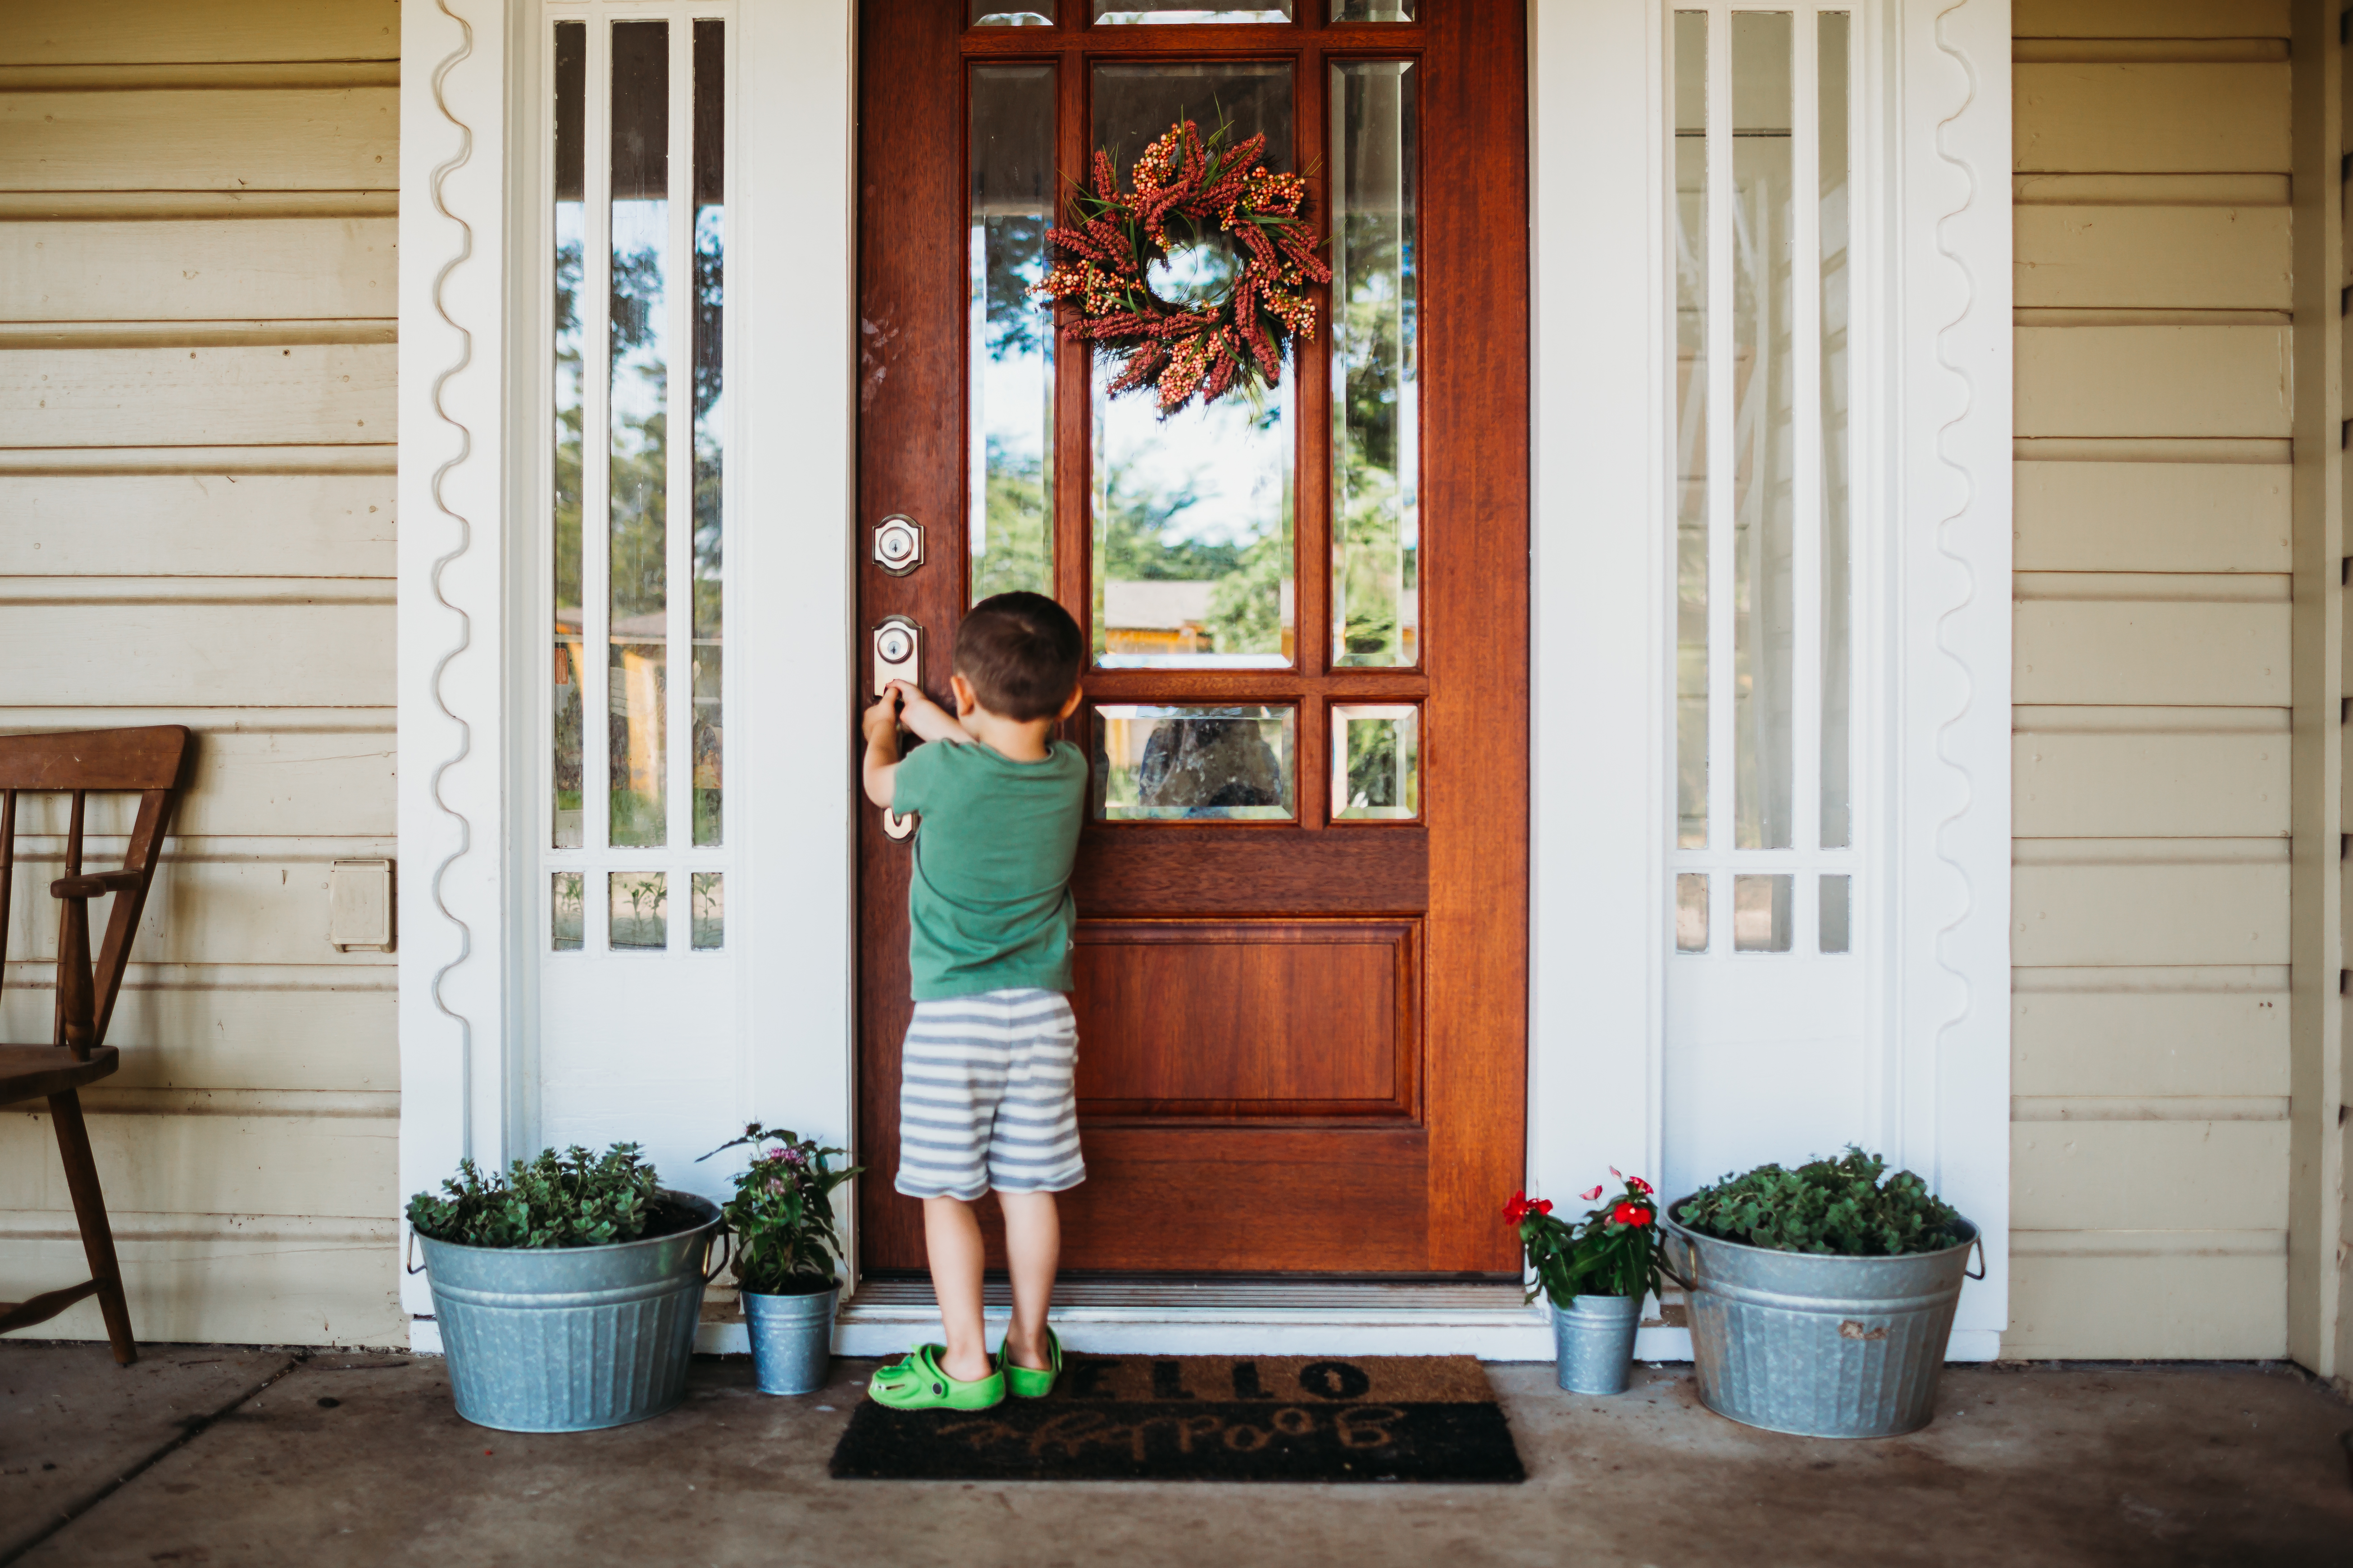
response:
M1937 1408L1937 1373L1977 1227L1941 1253L1835 1258L1701 1237L1661 1215L1687 1279L1699 1401L1798 1436L1899 1436ZM1680 1251L1680 1260L1675 1253Z

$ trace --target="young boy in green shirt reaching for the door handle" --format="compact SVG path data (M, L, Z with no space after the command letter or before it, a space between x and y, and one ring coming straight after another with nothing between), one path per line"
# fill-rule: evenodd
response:
M901 1410L984 1410L1035 1399L1061 1373L1047 1328L1061 1220L1054 1194L1087 1178L1078 1154L1078 1020L1071 1016L1071 860L1087 788L1075 745L1085 646L1045 595L981 599L955 635L955 715L894 682L866 710L866 799L915 830L908 969L915 1020L899 1065L899 1192L922 1199L922 1239L946 1345L873 1375ZM899 724L925 741L899 759ZM995 1190L1014 1321L991 1361L981 1225Z

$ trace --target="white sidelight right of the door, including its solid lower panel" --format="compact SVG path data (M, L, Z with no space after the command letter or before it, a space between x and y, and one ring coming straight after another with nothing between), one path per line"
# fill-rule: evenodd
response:
M1857 374L1871 268L1854 9L1675 9L1673 933L1666 1157L1866 1135L1871 534ZM1760 1114L1765 1110L1765 1114ZM1814 1135L1814 1145L1805 1138ZM1755 1147L1748 1147L1755 1145ZM1685 1161L1694 1161L1685 1168Z

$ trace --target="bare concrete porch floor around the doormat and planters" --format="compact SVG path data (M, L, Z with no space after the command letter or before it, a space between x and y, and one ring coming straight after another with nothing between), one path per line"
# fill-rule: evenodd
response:
M1955 1366L1873 1443L1492 1366L1525 1486L831 1481L871 1366L704 1359L661 1420L515 1436L421 1356L0 1342L0 1563L2353 1563L2353 1406L2280 1366Z

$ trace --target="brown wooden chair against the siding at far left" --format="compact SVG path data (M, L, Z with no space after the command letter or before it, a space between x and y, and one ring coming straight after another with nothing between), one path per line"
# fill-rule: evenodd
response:
M82 1253L89 1279L64 1291L47 1291L24 1302L0 1302L0 1333L42 1324L85 1295L99 1298L106 1338L115 1361L139 1359L132 1340L132 1314L122 1300L122 1269L115 1267L115 1237L106 1227L106 1199L99 1194L99 1166L89 1157L89 1128L82 1126L82 1084L94 1084L120 1065L106 1044L106 1023L122 992L122 969L129 964L132 936L155 882L162 835L172 825L179 799L181 766L188 759L188 731L179 724L151 729L87 729L64 736L0 736L0 957L7 954L9 893L16 879L16 795L73 792L73 816L66 827L66 875L49 884L59 900L56 924L56 1027L47 1046L0 1044L0 1105L49 1100L56 1124L56 1152L66 1159L66 1190L73 1192L73 1215L82 1225ZM82 799L92 790L136 790L139 820L132 825L122 870L82 875ZM115 896L106 919L106 940L96 969L89 961L89 900Z

